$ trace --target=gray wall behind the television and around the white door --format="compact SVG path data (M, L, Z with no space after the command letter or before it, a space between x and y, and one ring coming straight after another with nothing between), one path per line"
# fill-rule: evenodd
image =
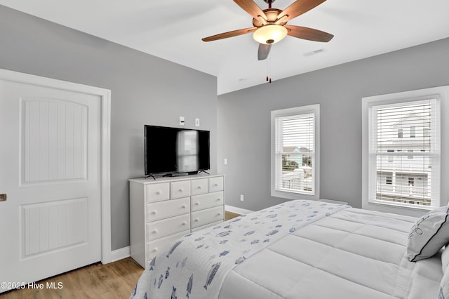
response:
M129 245L128 178L144 175L143 125L210 130L216 172L217 79L0 6L0 68L107 88L111 100L112 249Z

